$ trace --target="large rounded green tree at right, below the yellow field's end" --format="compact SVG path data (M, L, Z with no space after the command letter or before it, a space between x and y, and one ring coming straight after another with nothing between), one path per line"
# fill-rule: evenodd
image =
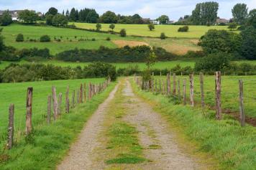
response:
M225 30L210 29L201 37L199 44L206 53L227 52L237 54L240 50L242 37Z

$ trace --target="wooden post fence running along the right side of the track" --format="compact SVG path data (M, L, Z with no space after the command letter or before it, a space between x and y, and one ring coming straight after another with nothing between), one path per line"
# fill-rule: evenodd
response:
M237 118L241 126L245 126L245 123L256 126L256 98L253 97L253 93L256 94L256 90L253 88L253 85L256 87L256 79L254 76L224 75L221 77L221 72L215 72L213 77L204 76L204 73L201 72L199 75L191 74L186 77L183 75L177 76L175 73L171 75L170 72L166 77L152 74L149 81L143 81L142 77L134 75L134 81L142 90L156 95L165 95L174 100L175 103L187 105L189 102L191 107L200 105L203 110L206 107L215 110L216 120L221 120L222 113L227 113ZM244 81L247 82L246 95L244 95ZM183 85L180 82L183 82ZM180 90L183 91L182 95ZM187 92L189 92L189 95L187 95ZM245 115L246 110L247 116Z

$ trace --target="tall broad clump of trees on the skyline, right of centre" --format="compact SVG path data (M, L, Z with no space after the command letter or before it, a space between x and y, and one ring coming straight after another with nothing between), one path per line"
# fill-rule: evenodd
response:
M193 24L211 25L216 22L219 4L214 1L196 4L192 11L191 21Z

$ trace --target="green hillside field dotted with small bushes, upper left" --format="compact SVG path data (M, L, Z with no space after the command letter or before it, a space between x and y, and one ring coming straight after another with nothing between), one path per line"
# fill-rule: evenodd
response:
M24 34L24 42L16 42L17 34ZM49 35L52 42L39 42L39 39L42 35ZM63 52L68 49L98 49L101 45L109 48L117 47L111 41L106 41L106 37L111 39L125 39L125 40L136 40L142 41L141 38L134 37L120 37L119 35L114 34L105 34L98 32L88 32L77 29L64 29L57 27L35 27L27 26L21 24L12 24L8 27L4 27L2 35L5 37L4 42L6 45L16 47L18 49L23 48L48 48L52 55L55 55L58 52ZM54 41L56 39L61 39L61 42ZM62 37L62 38L61 38ZM84 41L78 41L78 39L88 39ZM96 39L92 41L91 39ZM30 42L29 39L37 39L37 42ZM72 42L70 42L70 39Z

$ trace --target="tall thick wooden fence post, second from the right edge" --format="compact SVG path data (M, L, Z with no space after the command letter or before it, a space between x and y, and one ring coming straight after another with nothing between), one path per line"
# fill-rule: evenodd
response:
M221 72L215 72L216 120L221 120Z

